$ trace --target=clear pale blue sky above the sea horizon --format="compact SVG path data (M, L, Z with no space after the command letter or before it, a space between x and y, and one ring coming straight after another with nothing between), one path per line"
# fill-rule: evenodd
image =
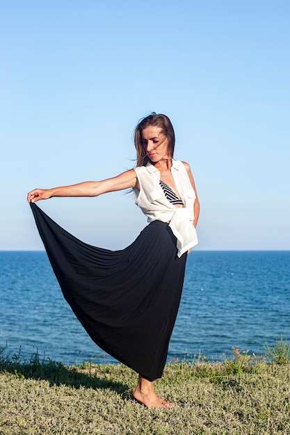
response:
M43 249L26 195L134 167L165 113L200 199L195 249L290 249L288 0L0 1L0 249ZM131 192L38 205L122 249L147 224Z

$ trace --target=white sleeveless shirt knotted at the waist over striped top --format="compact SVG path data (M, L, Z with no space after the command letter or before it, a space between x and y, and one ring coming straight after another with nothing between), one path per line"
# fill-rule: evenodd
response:
M161 188L160 172L151 163L135 168L140 191L134 188L135 202L147 216L147 221L161 220L169 222L172 233L177 238L177 255L179 257L198 244L198 236L193 227L193 204L195 191L181 161L172 161L172 177L184 207L170 204Z

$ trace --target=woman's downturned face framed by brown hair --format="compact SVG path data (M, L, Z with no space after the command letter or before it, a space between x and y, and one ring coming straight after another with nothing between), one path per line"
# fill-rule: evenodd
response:
M157 126L147 126L141 131L142 145L145 153L153 163L168 159L168 138Z

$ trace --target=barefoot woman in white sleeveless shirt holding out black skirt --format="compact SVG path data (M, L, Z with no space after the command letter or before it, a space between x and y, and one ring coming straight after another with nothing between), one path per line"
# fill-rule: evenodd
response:
M92 340L139 374L135 399L170 407L154 380L166 364L187 253L198 243L199 202L188 163L175 161L175 133L152 113L135 129L137 165L117 177L34 189L28 201L63 295ZM132 188L147 227L129 247L108 251L77 240L35 204L51 197L95 197Z

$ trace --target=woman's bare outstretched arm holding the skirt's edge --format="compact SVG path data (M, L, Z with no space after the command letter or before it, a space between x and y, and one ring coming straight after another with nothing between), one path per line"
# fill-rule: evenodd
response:
M34 189L27 195L27 201L37 202L40 199L49 199L51 197L97 197L106 192L134 188L136 180L136 172L129 170L122 172L117 177L102 181L85 181L52 189Z

